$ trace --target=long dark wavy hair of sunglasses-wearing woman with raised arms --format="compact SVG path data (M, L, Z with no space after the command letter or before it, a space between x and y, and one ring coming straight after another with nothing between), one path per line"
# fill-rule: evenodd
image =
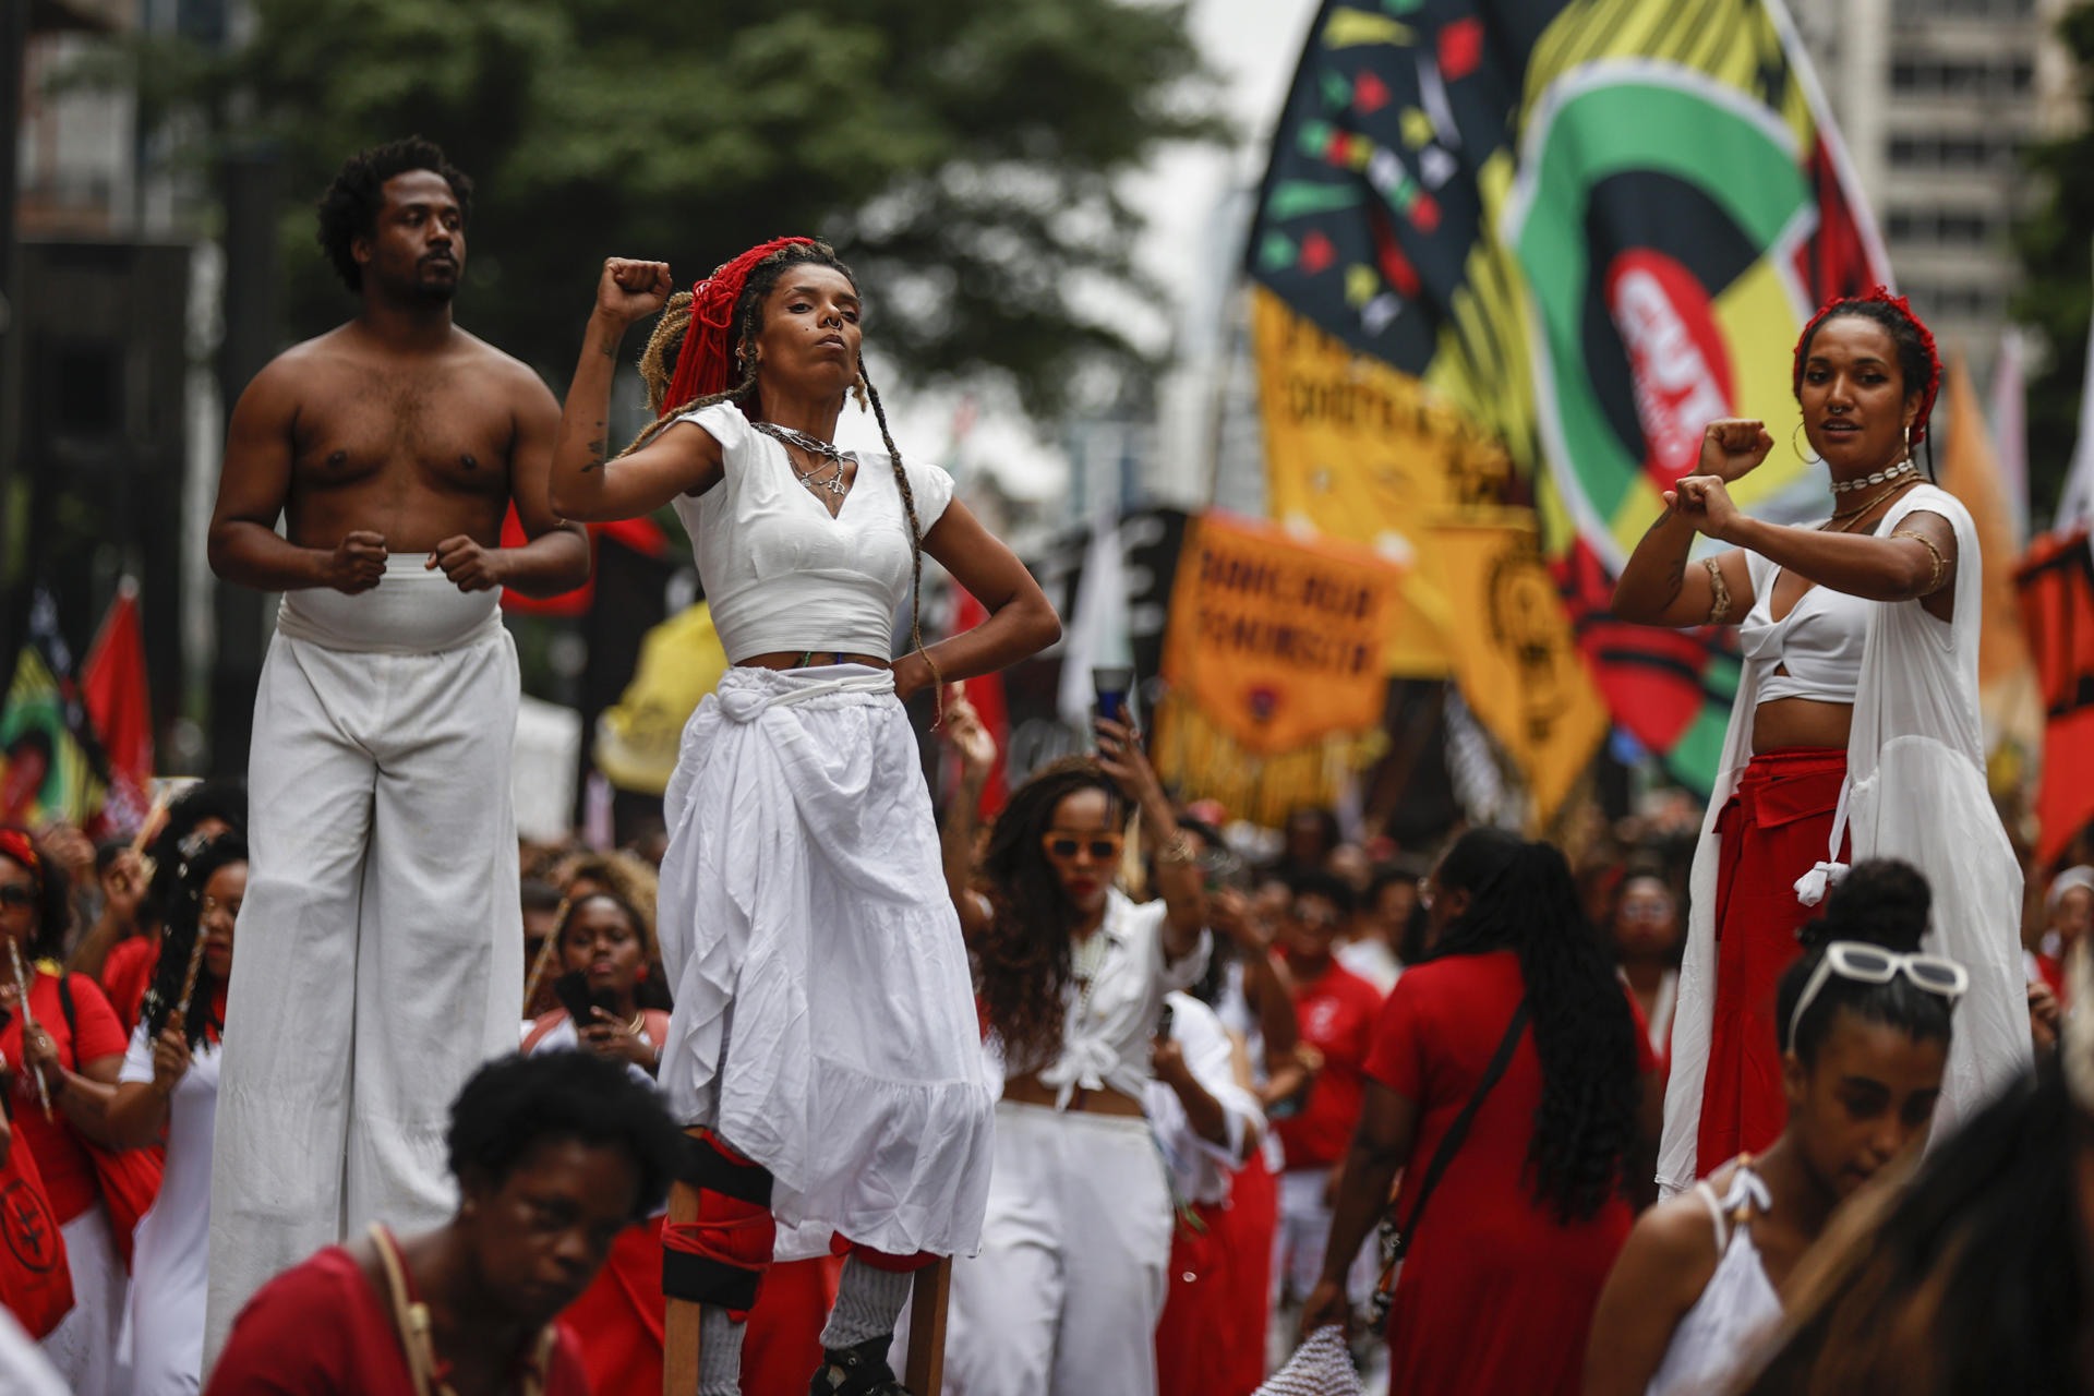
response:
M1093 758L1070 756L1043 766L1011 793L982 854L993 915L974 946L974 977L1009 1072L1034 1072L1062 1051L1076 906L1041 841L1053 827L1055 808L1091 789L1106 795L1110 818L1124 825L1127 802L1112 776Z

